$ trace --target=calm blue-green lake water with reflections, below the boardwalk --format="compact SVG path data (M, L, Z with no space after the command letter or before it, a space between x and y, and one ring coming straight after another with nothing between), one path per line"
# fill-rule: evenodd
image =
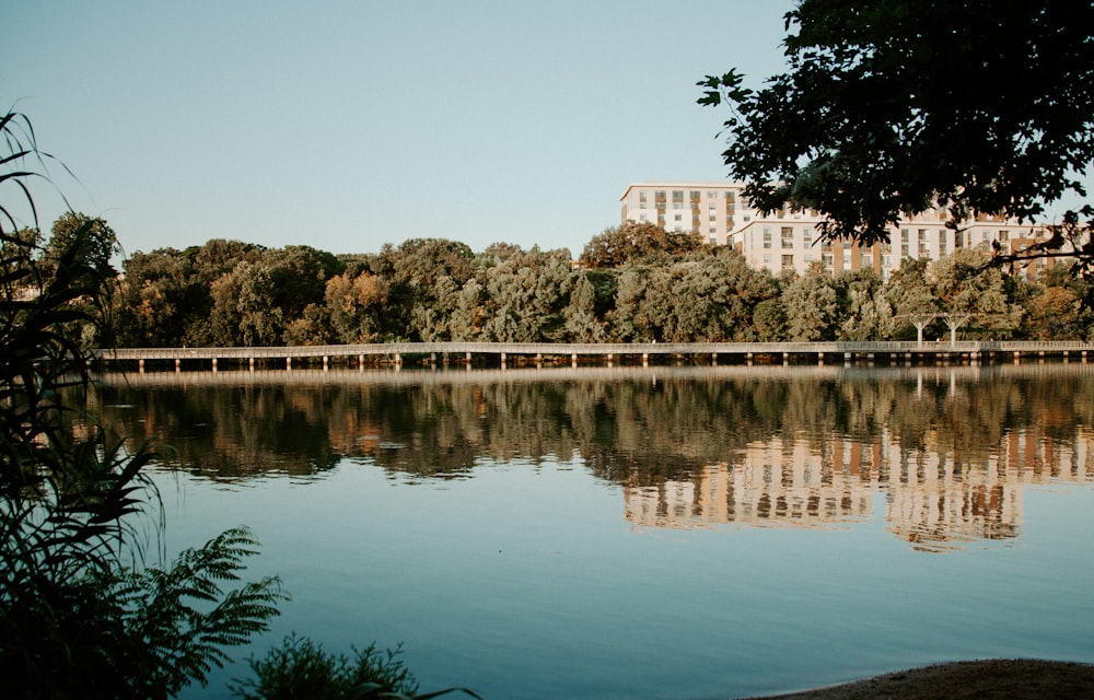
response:
M93 407L173 450L170 551L261 539L292 600L238 660L401 642L487 700L1094 662L1092 365L107 375Z

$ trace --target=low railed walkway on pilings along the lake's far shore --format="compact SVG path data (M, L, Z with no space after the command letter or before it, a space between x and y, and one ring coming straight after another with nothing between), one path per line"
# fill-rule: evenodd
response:
M880 341L880 342L377 342L368 345L342 346L287 346L276 348L117 348L96 350L95 357L104 365L121 362L137 362L143 371L148 361L174 362L179 370L184 361L210 362L217 370L218 360L246 361L254 369L256 361L268 362L280 360L286 369L292 369L294 359L318 360L327 368L331 360L356 361L359 366L366 362L372 364L391 363L400 365L405 358L420 357L437 361L440 355L445 361L466 361L472 363L476 355L497 358L502 366L511 358L570 358L577 364L578 357L597 355L607 362L624 358L641 358L648 362L651 355L705 355L711 362L718 362L719 357L744 358L781 358L788 363L791 358L807 358L812 355L818 363L824 363L826 355L839 355L843 361L860 358L951 358L962 357L970 361L991 360L1003 357L1017 360L1022 355L1057 355L1076 357L1086 360L1094 351L1094 343L1081 341Z

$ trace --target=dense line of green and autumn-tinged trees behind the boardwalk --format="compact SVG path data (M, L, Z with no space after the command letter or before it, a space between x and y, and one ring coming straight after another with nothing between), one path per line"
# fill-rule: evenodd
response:
M108 266L105 221L66 214L43 249L91 224ZM23 235L35 237L33 232ZM212 240L123 262L108 323L84 342L119 347L327 345L384 341L759 341L964 338L1089 339L1091 285L1066 266L1039 283L991 266L991 252L907 259L891 279L870 270L773 276L726 247L652 224L569 250L493 244L481 253L415 238L380 253L334 255Z

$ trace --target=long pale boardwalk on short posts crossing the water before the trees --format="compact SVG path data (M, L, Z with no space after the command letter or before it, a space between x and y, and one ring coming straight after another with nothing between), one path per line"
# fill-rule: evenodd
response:
M254 370L256 364L292 370L293 362L322 362L364 368L365 365L406 362L422 364L466 363L500 365L510 362L641 363L667 355L672 361L709 362L719 359L732 363L850 363L882 359L887 362L1019 362L1023 357L1056 357L1086 362L1094 343L1081 341L956 341L956 342L379 342L345 346L288 346L276 348L118 348L96 350L103 368L133 366L144 372L187 370L217 371L222 362Z

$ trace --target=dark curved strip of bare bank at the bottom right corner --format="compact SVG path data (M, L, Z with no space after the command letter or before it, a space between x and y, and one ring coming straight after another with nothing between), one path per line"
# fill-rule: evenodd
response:
M1094 664L1034 658L951 662L740 700L1039 700L1094 698Z

